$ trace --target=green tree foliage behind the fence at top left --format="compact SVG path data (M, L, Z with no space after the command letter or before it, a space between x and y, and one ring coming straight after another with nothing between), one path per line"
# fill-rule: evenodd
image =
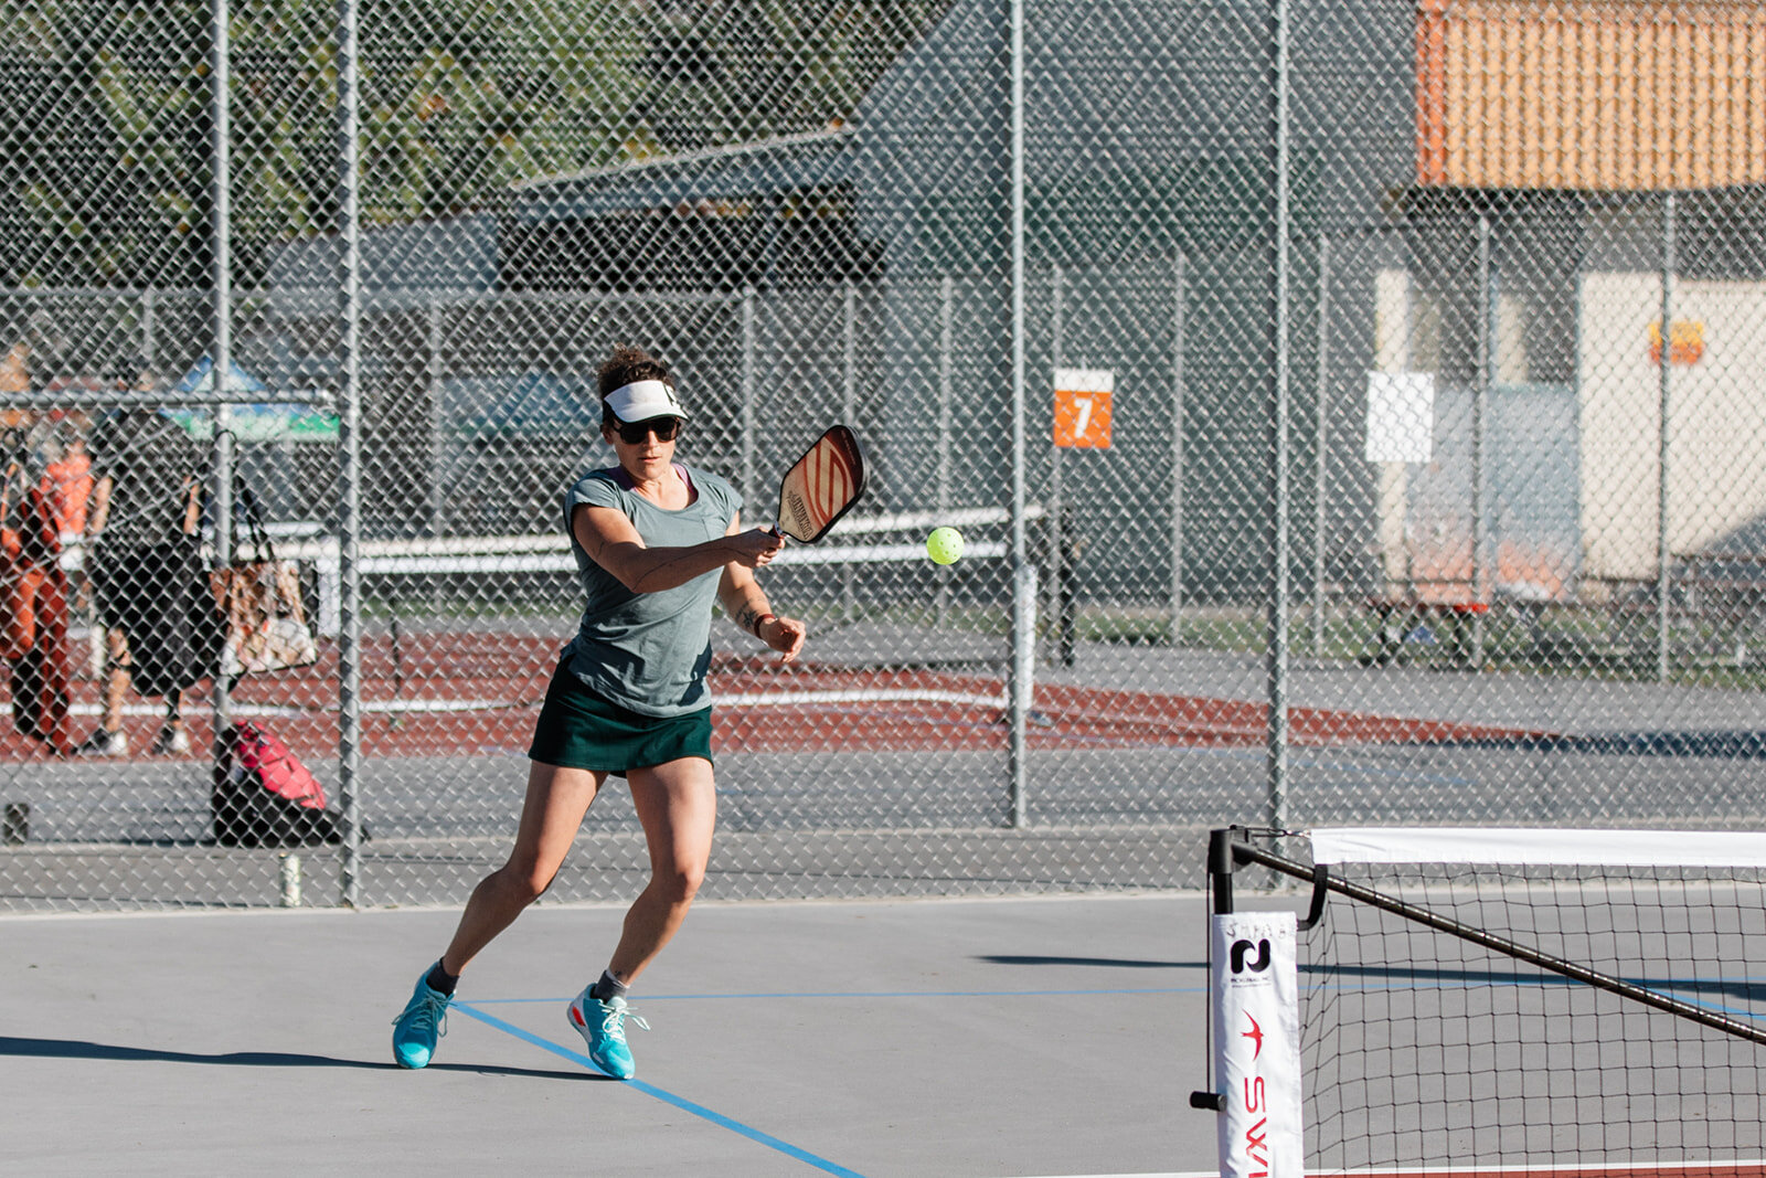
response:
M362 0L369 224L851 117L948 0ZM203 286L210 5L0 0L0 283ZM337 217L330 0L230 25L235 281Z

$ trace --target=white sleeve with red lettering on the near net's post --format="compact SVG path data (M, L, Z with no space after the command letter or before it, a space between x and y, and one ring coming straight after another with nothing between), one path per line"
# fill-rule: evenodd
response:
M1302 1178L1294 913L1213 917L1222 1178Z

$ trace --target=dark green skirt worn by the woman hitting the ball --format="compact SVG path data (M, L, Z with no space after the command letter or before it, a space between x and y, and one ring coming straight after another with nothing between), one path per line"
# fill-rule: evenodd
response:
M558 661L533 724L528 759L563 768L590 768L623 777L682 758L712 759L712 710L685 715L643 715L609 703Z

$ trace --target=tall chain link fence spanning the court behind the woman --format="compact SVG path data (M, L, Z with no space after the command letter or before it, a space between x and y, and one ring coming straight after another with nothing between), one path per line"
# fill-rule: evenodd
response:
M1757 5L0 9L4 908L463 901L620 343L749 523L872 464L763 576L802 664L713 625L708 895L1761 821ZM316 661L233 675L260 525ZM313 839L230 825L237 722ZM645 872L609 791L547 899Z

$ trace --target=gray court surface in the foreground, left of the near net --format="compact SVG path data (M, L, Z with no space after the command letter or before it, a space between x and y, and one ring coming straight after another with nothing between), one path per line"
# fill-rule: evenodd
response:
M627 1084L563 1016L622 915L530 910L424 1072L390 1019L452 910L4 917L0 1171L1215 1169L1196 894L701 902Z

